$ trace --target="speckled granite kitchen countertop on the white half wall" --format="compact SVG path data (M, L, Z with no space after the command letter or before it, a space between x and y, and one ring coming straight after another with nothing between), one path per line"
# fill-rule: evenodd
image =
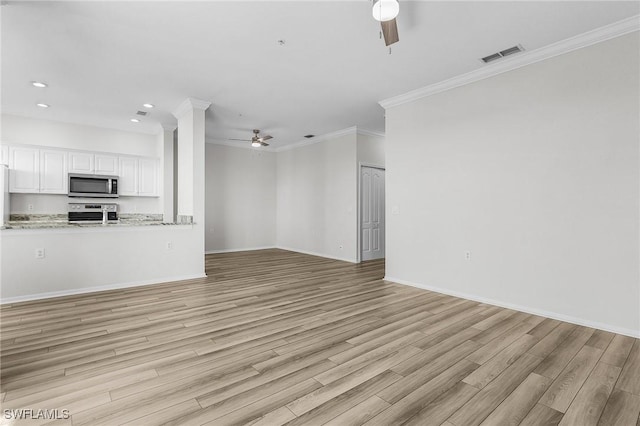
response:
M107 225L97 223L69 223L66 214L33 214L11 215L9 223L0 229L82 229L113 228L127 226L171 226L179 223L162 221L161 214L121 214L117 221L109 221Z

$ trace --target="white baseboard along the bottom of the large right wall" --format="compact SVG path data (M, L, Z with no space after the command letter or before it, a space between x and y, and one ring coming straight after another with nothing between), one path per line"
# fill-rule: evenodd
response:
M395 277L385 276L384 280L402 284L402 285L408 285L411 287L420 288L422 290L435 291L436 293L442 293L449 296L459 297L461 299L473 300L474 302L487 303L489 305L500 306L501 308L513 309L515 311L525 312L527 314L539 315L546 318L569 322L571 324L597 328L599 330L610 331L612 333L623 334L625 336L640 338L640 330L616 327L610 324L604 324L597 321L591 321L583 318L576 318L569 315L559 314L557 312L550 312L550 311L545 311L543 309L532 308L529 306L522 306L514 303L503 302L501 300L488 299L486 297L477 296L475 294L468 294L468 293L463 293L459 291L449 290L446 288L434 287L434 286L421 284L421 283L415 283L412 281L407 281L407 280L403 280Z

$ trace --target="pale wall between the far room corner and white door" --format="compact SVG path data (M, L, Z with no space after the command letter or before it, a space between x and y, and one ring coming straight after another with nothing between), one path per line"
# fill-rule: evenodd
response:
M354 132L278 152L279 247L356 261L356 151Z

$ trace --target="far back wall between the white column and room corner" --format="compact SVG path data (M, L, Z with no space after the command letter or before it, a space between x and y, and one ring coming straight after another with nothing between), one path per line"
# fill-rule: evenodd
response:
M276 153L206 144L205 251L276 244Z

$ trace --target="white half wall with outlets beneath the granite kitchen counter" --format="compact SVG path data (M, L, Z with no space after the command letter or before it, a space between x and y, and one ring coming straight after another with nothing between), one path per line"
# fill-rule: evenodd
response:
M0 231L2 302L202 277L194 232L191 225ZM35 259L36 248L44 259Z

